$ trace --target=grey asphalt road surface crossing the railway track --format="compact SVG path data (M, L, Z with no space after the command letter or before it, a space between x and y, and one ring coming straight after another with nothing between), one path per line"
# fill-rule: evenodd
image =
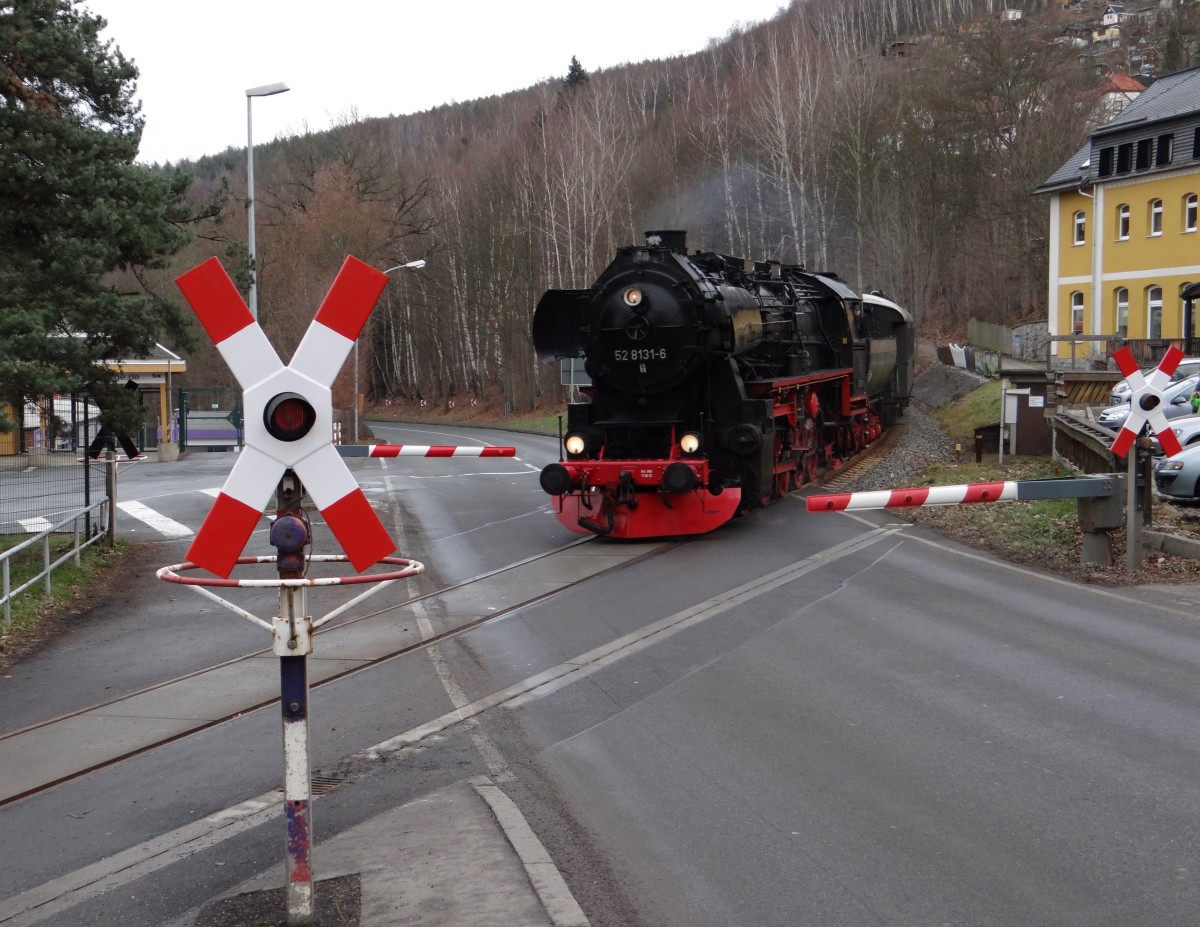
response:
M475 435L436 431L377 429L397 443ZM355 464L428 588L574 538L536 488L553 442L484 439L520 460ZM155 478L156 504L181 491L168 480L205 484L211 465L194 465ZM172 562L186 539L151 549ZM20 664L0 688L4 729L265 646L154 590L131 581L124 611L97 609ZM884 514L810 515L790 498L316 689L314 765L352 779L320 800L318 829L487 775L593 925L1194 925L1198 604L1198 586L1062 582ZM455 618L422 608L431 624ZM420 749L338 765L564 664L569 677ZM5 806L0 898L278 778L264 710ZM166 923L280 855L275 830L246 830L46 922Z

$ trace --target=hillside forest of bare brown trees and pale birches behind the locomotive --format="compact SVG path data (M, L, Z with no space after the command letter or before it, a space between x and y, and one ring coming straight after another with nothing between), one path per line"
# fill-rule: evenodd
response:
M530 408L558 397L529 342L541 293L589 285L652 228L835 270L926 331L1043 317L1048 204L1031 192L1086 139L1104 77L1056 40L1100 7L1027 0L1012 20L1004 6L799 0L700 54L588 72L563 49L562 80L385 120L350 108L263 145L263 323L287 355L346 255L425 258L372 317L364 388ZM1190 35L1192 10L1163 22ZM197 196L222 180L245 196L244 151L185 167ZM233 210L175 271L217 253L244 273L245 239ZM190 378L228 379L206 349Z

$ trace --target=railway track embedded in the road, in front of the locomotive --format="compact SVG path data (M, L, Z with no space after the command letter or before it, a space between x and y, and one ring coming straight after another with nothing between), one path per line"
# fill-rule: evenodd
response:
M317 632L314 635L317 639L316 654L320 654L320 644L323 640L329 644L330 639L335 635L341 636L342 639L349 639L359 628L365 632L362 635L365 641L360 641L358 646L368 646L370 641L376 641L379 638L378 628L380 622L398 622L398 617L406 610L413 611L415 610L414 606L421 603L431 604L438 600L450 602L456 597L464 602L479 602L481 598L480 591L486 590L487 584L497 578L504 578L508 581L511 581L514 579L520 579L521 572L529 572L530 574L538 575L546 575L547 572L548 574L560 573L560 570L556 570L553 568L554 558L563 556L566 551L571 551L582 544L590 543L593 543L590 538L572 542L563 548L557 548L552 551L490 570L488 573L446 585L432 592L408 598L400 603L390 604L368 614L343 618L342 621ZM311 688L319 688L337 680L343 680L348 676L364 672L389 660L398 659L416 651L422 651L461 636L476 628L499 621L517 609L522 609L529 604L541 602L562 592L566 592L588 582L592 579L623 569L632 563L656 557L660 554L678 546L679 543L684 542L680 540L676 543L661 544L652 548L650 550L632 552L629 557L619 560L616 563L611 563L611 557L606 557L605 562L610 563L610 566L600 566L598 569L587 573L587 575L563 581L556 588L548 591L546 590L544 581L536 584L530 582L532 592L528 597L518 597L517 602L514 602L503 609L488 611L486 615L467 618L466 621L458 622L452 628L438 632L430 629L430 633L420 635L414 630L412 633L413 640L410 641L402 644L392 642L390 645L385 642L379 646L376 652L356 660L355 665L335 669L334 671L320 675L319 678L313 678ZM607 552L611 554L611 551ZM575 570L575 573L577 574L578 570ZM486 598L486 594L482 598ZM418 624L418 622L408 621L407 618L404 620L404 623L410 624L414 628ZM264 664L262 658L264 656L272 656L270 647L244 653L233 659L223 660L200 670L194 670L181 676L163 680L152 686L146 686L94 705L77 708L54 718L48 718L13 731L0 734L0 766L10 770L19 770L20 764L18 762L18 756L20 756L22 752L30 749L46 750L53 760L49 764L42 765L36 773L30 773L36 776L36 778L30 778L29 776L23 778L19 773L13 777L6 777L7 781L5 783L0 783L0 807L31 795L37 795L38 793L46 791L47 789L54 788L65 782L70 782L71 779L102 770L167 743L184 740L198 734L199 731L223 724L224 722L232 720L233 718L238 718L248 712L278 704L277 681L275 680L274 671L266 674L270 677L269 688L259 687L256 690L254 687L250 687L250 689L247 689L246 698L240 701L230 700L228 698L228 693L222 690L222 686L227 684L224 680L229 677L246 678L256 672L262 675ZM342 660L337 662L341 663ZM210 706L196 705L194 701L192 701L194 700L197 692L208 692L218 707L205 713L205 707ZM98 759L84 758L82 755L83 752L77 749L77 735L73 734L72 730L76 729L76 725L82 723L80 719L128 719L131 716L137 713L132 710L132 705L144 706L146 704L184 704L186 705L185 711L176 712L176 717L179 714L194 717L192 717L191 720L181 723L168 735L155 734L156 729L150 724L140 725L140 736L136 736L132 740L114 738L110 748Z

